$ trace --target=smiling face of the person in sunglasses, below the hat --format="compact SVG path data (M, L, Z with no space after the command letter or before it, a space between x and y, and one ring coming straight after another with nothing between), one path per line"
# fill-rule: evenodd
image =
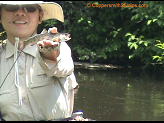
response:
M7 8L8 5L5 6ZM1 9L0 22L9 40L13 40L15 37L26 40L37 33L37 27L38 24L42 22L43 13L39 12L36 5L30 5L36 8L34 12L28 12L30 7L26 9L26 7L21 5L19 5L19 9L15 11L9 11L5 6Z

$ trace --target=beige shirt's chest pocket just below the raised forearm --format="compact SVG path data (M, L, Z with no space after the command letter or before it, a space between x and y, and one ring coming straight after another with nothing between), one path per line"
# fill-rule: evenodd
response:
M53 77L47 76L42 68L36 70L36 74L32 77L30 88L43 87L54 82Z

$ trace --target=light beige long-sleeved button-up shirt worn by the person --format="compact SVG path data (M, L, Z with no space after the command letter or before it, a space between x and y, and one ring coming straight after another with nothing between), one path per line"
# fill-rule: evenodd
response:
M37 45L26 46L17 62L22 105L19 105L18 88L14 82L15 68L12 68L14 46L7 41L0 53L0 86L7 76L0 88L2 117L7 121L70 117L74 103L73 88L78 84L67 43L61 43L57 63L42 58Z

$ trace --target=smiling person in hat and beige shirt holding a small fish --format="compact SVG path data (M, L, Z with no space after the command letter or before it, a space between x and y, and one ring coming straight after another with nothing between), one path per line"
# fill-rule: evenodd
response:
M0 113L5 121L71 117L78 83L65 42L70 35L56 28L37 34L38 25L48 19L64 22L59 4L0 1L0 23L7 34L0 48Z

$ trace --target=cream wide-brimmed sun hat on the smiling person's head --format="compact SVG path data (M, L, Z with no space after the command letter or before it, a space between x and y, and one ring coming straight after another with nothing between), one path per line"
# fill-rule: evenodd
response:
M44 16L43 21L48 19L57 19L61 22L64 22L64 15L62 7L55 2L43 2L43 1L0 1L1 4L12 4L12 5L21 5L21 4L38 4L41 6Z

